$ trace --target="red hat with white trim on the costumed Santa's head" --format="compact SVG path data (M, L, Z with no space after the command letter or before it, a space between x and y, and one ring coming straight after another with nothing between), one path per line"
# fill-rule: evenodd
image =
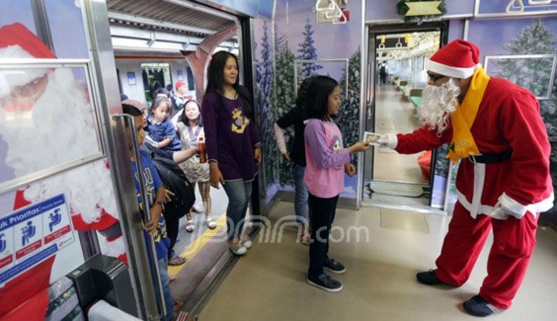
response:
M472 42L457 39L439 49L428 61L427 69L439 75L468 78L480 67L480 49Z

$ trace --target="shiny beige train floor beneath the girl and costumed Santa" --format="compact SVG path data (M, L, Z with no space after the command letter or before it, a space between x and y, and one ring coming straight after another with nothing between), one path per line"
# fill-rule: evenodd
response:
M292 211L292 203L281 202L271 212L271 221ZM434 267L449 219L377 207L339 208L329 254L346 265L345 274L334 275L344 284L340 293L306 283L309 248L296 241L295 230L287 229L281 241L271 237L270 242L260 242L256 237L253 248L204 305L199 319L471 320L462 302L477 294L486 275L491 237L470 280L460 288L421 285L415 277L417 271ZM356 233L354 227L367 232ZM351 238L342 237L343 231L352 231ZM490 320L554 320L556 254L557 232L540 227L514 305Z

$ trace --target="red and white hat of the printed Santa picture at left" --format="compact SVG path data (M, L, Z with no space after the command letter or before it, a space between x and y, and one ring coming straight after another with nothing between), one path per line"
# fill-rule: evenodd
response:
M53 59L50 49L21 23L13 23L0 28L0 60L42 58ZM46 74L47 69L0 70L0 97L9 94L14 87L26 85Z

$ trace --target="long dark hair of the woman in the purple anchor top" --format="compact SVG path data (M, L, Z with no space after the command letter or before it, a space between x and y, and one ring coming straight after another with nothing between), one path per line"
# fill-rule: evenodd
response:
M238 58L236 57L236 55L231 54L230 52L224 50L216 52L212 56L211 62L209 63L209 68L207 70L207 88L205 89L205 94L212 93L212 92L219 93L219 94L223 93L223 89L224 89L223 73L224 73L224 66L226 66L226 60L228 59L228 57L233 57L234 60L236 60L236 66L239 67ZM242 98L244 102L243 104L244 114L248 118L253 119L253 109L251 107L251 101L246 95L246 93L244 92L244 90L242 89L242 87L240 86L240 84L238 84L238 79L240 79L240 77L236 77L236 82L234 82L232 87L234 87L234 90L236 90L236 93L238 94L239 97Z

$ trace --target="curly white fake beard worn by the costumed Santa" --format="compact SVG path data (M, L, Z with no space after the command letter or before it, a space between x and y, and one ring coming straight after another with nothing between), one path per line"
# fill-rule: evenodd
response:
M458 95L460 87L453 79L441 86L428 85L422 93L423 103L417 108L420 124L437 130L440 137L448 127L449 115L457 108Z

